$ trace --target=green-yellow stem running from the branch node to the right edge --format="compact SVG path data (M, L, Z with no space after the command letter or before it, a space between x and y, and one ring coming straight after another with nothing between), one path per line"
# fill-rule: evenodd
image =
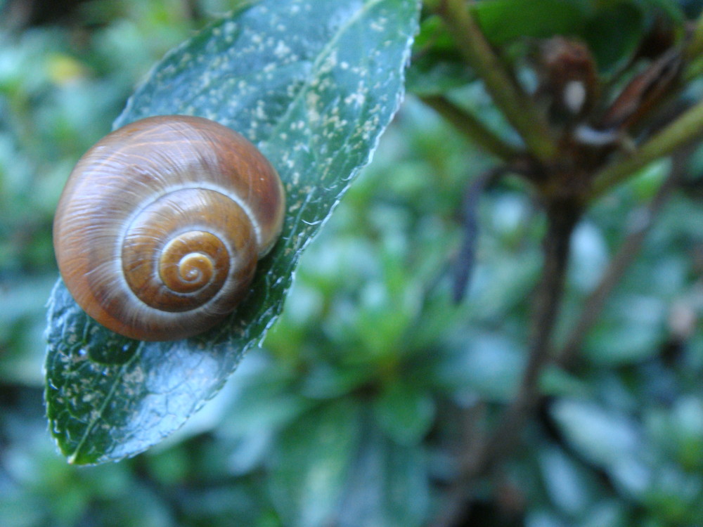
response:
M611 164L596 174L590 198L595 199L650 162L671 154L701 135L703 135L703 101L684 112L681 117L644 143L631 157Z

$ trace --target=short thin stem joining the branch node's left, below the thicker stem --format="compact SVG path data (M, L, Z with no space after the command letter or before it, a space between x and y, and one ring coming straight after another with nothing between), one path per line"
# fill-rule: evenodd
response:
M472 143L479 145L479 147L498 157L498 159L509 162L520 154L520 150L509 143L505 143L503 139L488 129L475 115L463 108L459 108L446 97L425 96L421 100L453 124Z

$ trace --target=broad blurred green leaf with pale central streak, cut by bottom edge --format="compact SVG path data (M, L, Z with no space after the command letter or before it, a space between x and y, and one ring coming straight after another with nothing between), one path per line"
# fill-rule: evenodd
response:
M359 445L360 429L359 405L342 399L309 412L282 434L270 483L284 525L332 523Z

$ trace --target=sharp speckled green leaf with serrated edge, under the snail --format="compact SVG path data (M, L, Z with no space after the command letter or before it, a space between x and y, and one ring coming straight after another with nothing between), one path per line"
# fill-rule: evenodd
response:
M417 0L263 0L155 67L115 126L141 117L215 119L259 145L283 179L283 235L225 323L144 343L104 330L59 281L49 301L46 405L71 462L135 455L221 388L283 306L300 252L370 160L403 95Z

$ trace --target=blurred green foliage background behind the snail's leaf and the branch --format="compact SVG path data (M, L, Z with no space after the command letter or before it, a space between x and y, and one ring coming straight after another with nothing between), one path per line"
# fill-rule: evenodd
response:
M139 79L233 3L202 1L195 18L184 5L93 1L62 24L0 32L0 524L425 525L465 409L490 412L520 378L544 226L520 183L491 188L472 287L453 306L458 189L490 160L413 96L302 257L263 349L214 401L120 464L79 469L56 453L41 396L53 209ZM456 96L488 106L472 84ZM692 159L700 174L703 151ZM579 225L565 328L668 170L648 167ZM680 192L664 209L579 375L544 377L550 404L482 487L476 525L703 523L701 199Z

